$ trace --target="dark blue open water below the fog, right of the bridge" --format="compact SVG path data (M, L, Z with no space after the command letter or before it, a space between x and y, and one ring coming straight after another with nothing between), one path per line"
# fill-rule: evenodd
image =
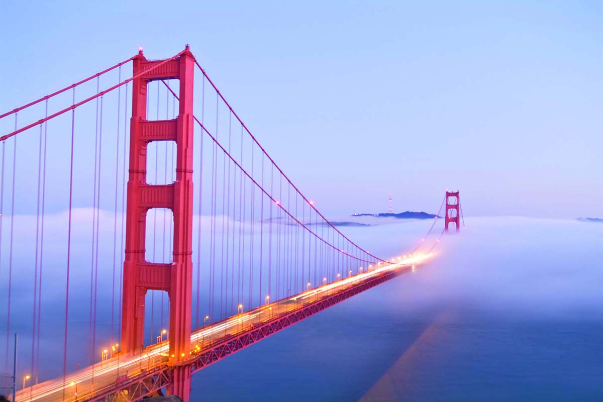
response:
M455 303L373 307L408 275L194 375L207 401L598 401L603 322Z

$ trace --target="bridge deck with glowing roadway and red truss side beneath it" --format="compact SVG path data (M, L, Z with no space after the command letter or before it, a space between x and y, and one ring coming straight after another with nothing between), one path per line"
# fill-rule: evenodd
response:
M396 277L424 257L412 257L361 274L327 283L306 292L198 328L191 334L192 371L251 345L309 315L370 287ZM136 400L168 385L169 340L134 356L116 356L17 392L17 401ZM77 393L77 395L76 395ZM119 397L118 397L119 395Z

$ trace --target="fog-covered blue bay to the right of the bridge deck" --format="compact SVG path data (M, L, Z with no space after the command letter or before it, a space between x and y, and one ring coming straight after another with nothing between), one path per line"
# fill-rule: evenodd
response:
M603 225L473 225L414 274L196 373L192 400L602 401Z

